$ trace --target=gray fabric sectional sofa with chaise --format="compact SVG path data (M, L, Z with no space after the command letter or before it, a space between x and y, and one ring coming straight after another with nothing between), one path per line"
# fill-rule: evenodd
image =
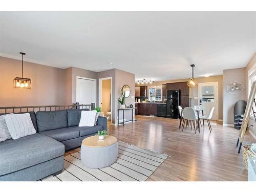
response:
M107 129L100 116L97 125L79 127L81 111L29 112L37 133L0 142L0 181L36 181L61 173L65 151Z

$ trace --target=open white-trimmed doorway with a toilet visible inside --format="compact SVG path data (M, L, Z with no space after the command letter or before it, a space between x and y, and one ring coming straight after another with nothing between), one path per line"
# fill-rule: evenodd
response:
M99 107L108 121L112 122L112 77L99 79Z

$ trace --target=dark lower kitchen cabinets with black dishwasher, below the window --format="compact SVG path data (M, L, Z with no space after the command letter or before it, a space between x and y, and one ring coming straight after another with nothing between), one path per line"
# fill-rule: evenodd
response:
M166 103L164 102L135 102L135 107L138 108L138 115L166 116Z

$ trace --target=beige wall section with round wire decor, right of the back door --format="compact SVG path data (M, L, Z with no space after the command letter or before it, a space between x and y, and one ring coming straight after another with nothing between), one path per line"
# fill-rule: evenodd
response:
M230 94L227 86L232 81L241 82L244 90L239 94ZM246 100L246 70L245 68L223 70L223 124L234 123L233 106L239 100Z

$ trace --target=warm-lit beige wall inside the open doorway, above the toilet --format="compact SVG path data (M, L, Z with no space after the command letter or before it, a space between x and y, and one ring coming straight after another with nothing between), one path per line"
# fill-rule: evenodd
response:
M102 111L106 115L106 112L111 111L111 79L102 80Z

